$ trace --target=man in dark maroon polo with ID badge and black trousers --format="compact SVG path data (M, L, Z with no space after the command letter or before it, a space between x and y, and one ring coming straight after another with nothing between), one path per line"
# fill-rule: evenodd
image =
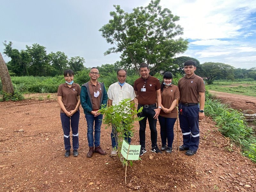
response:
M149 75L149 67L147 63L140 64L140 75L134 82L134 91L138 99L138 110L143 107L143 110L137 116L144 117L140 124L140 156L147 152L145 147L145 130L148 119L151 135L151 152L162 153L157 147L157 131L156 121L161 110L161 92L160 82L156 77ZM157 106L156 106L157 103Z

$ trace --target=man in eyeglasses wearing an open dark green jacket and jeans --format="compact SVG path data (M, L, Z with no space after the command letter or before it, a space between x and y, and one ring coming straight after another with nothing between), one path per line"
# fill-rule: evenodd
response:
M98 78L100 77L99 70L93 67L89 76L90 81L82 85L80 100L87 121L87 139L89 145L87 157L92 157L93 152L106 155L106 151L100 147L100 126L103 116L99 113L99 109L102 107L102 104L104 106L107 105L108 95L104 84L98 82ZM95 124L94 139L93 124Z

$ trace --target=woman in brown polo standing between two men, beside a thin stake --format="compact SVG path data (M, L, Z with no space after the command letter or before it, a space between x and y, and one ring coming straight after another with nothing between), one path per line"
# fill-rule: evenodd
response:
M160 124L160 135L162 140L161 150L172 153L174 138L173 126L177 118L177 99L180 99L179 88L172 84L172 73L164 73L164 80L161 83L162 109L158 116ZM166 146L166 139L168 145Z

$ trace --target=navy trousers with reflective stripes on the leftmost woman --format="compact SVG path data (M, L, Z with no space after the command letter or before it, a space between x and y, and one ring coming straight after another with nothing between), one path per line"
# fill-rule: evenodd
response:
M77 111L71 117L68 117L65 113L60 113L60 120L62 124L62 129L64 133L64 145L65 150L70 150L70 122L71 122L71 129L72 129L72 145L73 149L76 150L79 148L79 141L78 141L78 124L79 124L79 117L80 111Z

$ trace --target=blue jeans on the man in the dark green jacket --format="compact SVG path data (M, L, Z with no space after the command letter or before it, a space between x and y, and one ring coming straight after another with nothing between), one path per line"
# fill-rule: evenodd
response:
M94 146L99 147L100 146L100 126L102 124L102 114L99 116L94 116L92 114L86 114L85 115L86 121L87 121L87 139L88 139L88 145L89 147L93 147L93 141ZM93 140L93 124L94 126L94 140Z

